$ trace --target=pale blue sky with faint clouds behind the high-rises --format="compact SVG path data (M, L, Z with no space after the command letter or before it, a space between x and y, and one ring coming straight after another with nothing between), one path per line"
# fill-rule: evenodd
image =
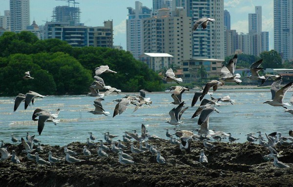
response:
M103 26L104 20L113 19L114 45L122 45L126 50L126 7L135 8L136 0L76 0L81 8L81 22L86 26ZM151 8L152 0L139 0ZM248 33L248 14L254 13L254 6L262 6L262 30L269 31L270 49L273 49L273 0L224 0L231 16L231 29L238 33ZM63 0L30 0L31 22L42 25L51 21L53 8L68 5ZM9 10L9 0L0 0L0 15Z

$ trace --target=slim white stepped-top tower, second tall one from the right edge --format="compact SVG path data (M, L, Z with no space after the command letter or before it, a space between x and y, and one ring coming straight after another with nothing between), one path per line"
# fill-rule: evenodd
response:
M261 6L255 6L255 13L248 14L248 31L249 33L261 34Z

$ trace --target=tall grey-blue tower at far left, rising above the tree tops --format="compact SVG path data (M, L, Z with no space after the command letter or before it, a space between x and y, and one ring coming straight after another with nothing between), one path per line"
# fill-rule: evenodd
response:
M10 0L10 30L26 30L30 23L29 0Z

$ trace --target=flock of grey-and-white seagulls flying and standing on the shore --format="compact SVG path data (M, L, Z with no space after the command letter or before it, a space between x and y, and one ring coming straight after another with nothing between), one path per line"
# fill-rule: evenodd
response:
M213 22L215 19L210 18L202 18L195 21L193 25L193 31L195 31L199 25L202 26L203 29L207 28L208 22ZM215 108L215 106L220 106L221 102L227 102L233 105L235 103L234 100L230 98L229 95L223 96L220 98L214 98L211 96L212 93L209 92L209 90L212 88L213 92L217 91L218 86L222 86L225 84L225 82L235 82L236 84L240 84L241 81L241 75L235 74L235 67L237 63L237 55L233 56L233 58L230 59L229 63L227 65L223 65L221 69L221 75L218 80L209 80L204 88L200 91L197 91L194 93L194 96L192 98L191 108L195 106L196 102L199 100L201 101L200 106L197 108L197 110L193 113L191 118L195 118L199 116L198 118L198 126L199 129L195 129L194 131L185 131L185 130L176 130L178 126L182 126L184 124L183 121L181 121L181 117L183 113L188 110L189 107L186 107L186 103L183 100L183 95L185 92L189 92L190 89L183 86L172 86L169 88L171 93L171 97L173 98L174 102L171 102L170 104L177 105L173 109L169 111L170 120L166 123L170 124L174 127L174 133L169 133L168 129L166 129L166 137L167 139L170 139L170 144L178 146L178 149L180 149L182 152L191 152L191 144L194 140L203 141L203 146L206 150L213 150L216 146L215 144L209 142L209 140L214 139L214 141L221 141L224 138L228 137L229 142L232 144L235 141L239 140L239 138L234 138L231 136L231 133L226 133L224 131L214 131L209 129L209 117L212 115L213 112L220 113L218 109ZM271 106L281 106L286 108L285 106L290 106L289 103L284 103L283 98L285 97L285 94L287 91L292 88L293 82L288 83L284 87L280 88L282 76L280 75L264 75L260 76L258 72L262 70L260 68L260 65L262 63L262 60L259 60L253 64L251 64L251 76L247 76L247 78L250 78L251 80L261 80L262 84L269 78L275 79L271 86L271 92L272 92L272 99L267 100L264 103L267 103ZM100 75L104 73L113 73L116 74L117 72L112 71L109 69L107 65L100 66L95 69L95 76L93 83L89 86L90 93L87 94L87 96L91 97L97 97L95 98L94 107L95 109L92 111L88 111L92 114L104 114L108 115L110 112L106 112L105 109L102 106L102 102L105 100L106 96L108 94L111 94L113 92L115 93L121 93L121 90L117 88L113 88L111 86L106 86L105 81L103 80ZM25 76L23 79L33 79L33 77L30 76L30 72L25 72ZM176 82L177 84L180 84L180 82L183 82L182 78L176 78L173 70L169 68L166 72L166 77L163 77L162 80L165 80L167 82ZM100 90L105 90L105 93L100 93ZM115 99L113 102L117 102L115 109L113 111L113 116L120 115L123 112L126 111L128 106L130 104L135 105L135 109L133 112L136 112L140 107L143 105L151 105L152 101L150 98L146 98L146 92L150 92L147 90L140 90L139 94L134 95L126 95L122 98ZM210 95L210 99L204 98L206 95ZM30 103L34 104L34 100L36 97L44 98L44 95L41 95L39 93L29 91L26 94L19 93L18 96L15 98L15 104L14 104L14 112L17 111L18 107L20 106L21 102L24 101L24 109L27 109L27 107L30 105ZM293 100L292 100L293 102ZM286 108L287 109L287 108ZM33 115L32 120L38 121L38 133L41 135L43 129L44 129L44 123L45 122L52 122L53 124L60 123L60 120L57 119L59 115L60 109L58 109L56 112L51 113L46 110L42 110L37 108ZM290 112L293 114L293 110L286 110L285 112ZM194 133L195 132L195 133ZM107 151L112 151L118 154L118 161L122 165L131 165L135 162L133 161L133 156L131 154L140 154L144 152L150 152L151 155L156 155L156 161L159 164L166 164L167 161L161 154L160 150L157 150L156 147L152 144L148 144L148 140L160 140L161 138L155 136L155 135L149 135L146 131L146 126L142 124L141 127L141 134L139 135L135 130L133 132L125 131L123 132L124 135L122 136L122 140L118 140L117 142L113 141L113 138L116 138L117 136L110 134L109 132L105 132L105 144L103 140L99 140L99 144L95 143L96 137L93 136L92 132L89 132L89 137L86 139L86 146L83 147L83 154L84 156L91 156L92 152L88 150L87 148L93 147L97 148L97 154L99 157L107 157ZM179 140L177 140L177 138ZM281 135L280 135L281 136ZM290 136L293 137L293 131L291 131ZM264 142L263 138L261 137L261 133L259 132L259 137L254 137L252 133L247 134L247 141L249 143L254 143L257 140L259 141L259 144L262 146L265 146L270 150L269 155L265 155L264 158L274 160L273 165L277 168L287 168L288 165L278 161L278 157L281 157L280 153L277 152L275 149L278 146L292 146L293 142L287 142L286 140L293 140L293 138L275 138L274 133L271 133L269 135L266 134L266 137L268 139L268 142ZM139 148L134 147L134 143L131 141L139 142ZM51 151L48 152L48 161L40 158L38 152L33 155L32 153L34 151L42 151L42 147L40 144L40 141L36 140L34 136L29 136L27 133L25 141L23 138L21 138L21 144L25 148L22 152L26 153L27 158L31 161L36 161L36 163L40 165L46 165L46 164L54 164L59 163L62 160L65 160L66 162L72 164L76 162L83 162L84 160L78 159L75 157L75 155L78 155L77 152L69 150L67 146L64 146L64 154L65 159L62 158L56 158L53 157L53 153ZM18 143L18 139L12 134L11 135L11 141L15 144ZM36 149L33 149L33 144L38 143L38 147ZM143 143L145 143L145 146L143 146ZM3 144L3 141L2 141ZM111 145L108 147L107 145ZM128 146L127 146L128 145ZM130 145L130 148L129 148ZM124 152L124 150L129 149L129 154ZM1 153L1 161L7 160L11 158L11 161L15 164L20 163L20 159L16 156L15 151L12 151L12 154L10 154L5 145L1 145L0 147L0 153ZM208 157L204 153L204 149L200 150L199 155L199 162L200 163L208 163Z

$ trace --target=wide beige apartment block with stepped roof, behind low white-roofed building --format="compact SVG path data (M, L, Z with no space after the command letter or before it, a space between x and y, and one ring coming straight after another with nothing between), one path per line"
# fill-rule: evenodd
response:
M167 53L172 62L181 66L182 60L192 58L191 18L183 7L158 10L158 15L143 20L145 53Z

